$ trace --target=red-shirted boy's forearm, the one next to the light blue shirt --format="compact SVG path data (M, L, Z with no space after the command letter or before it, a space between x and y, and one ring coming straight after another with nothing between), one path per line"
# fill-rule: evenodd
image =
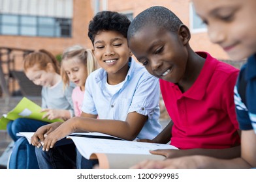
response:
M155 136L152 140L150 139L138 139L138 142L150 142L150 143L158 143L158 144L167 144L170 142L170 138L172 137L172 125L173 122L170 120L168 125L159 133L159 135Z

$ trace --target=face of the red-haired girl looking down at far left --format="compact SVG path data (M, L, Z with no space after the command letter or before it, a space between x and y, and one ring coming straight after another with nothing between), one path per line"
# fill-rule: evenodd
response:
M27 78L35 85L40 85L40 86L53 86L56 84L54 81L54 77L56 77L57 73L54 72L54 68L50 68L51 65L48 64L46 70L40 70L39 65L35 64L31 68L27 68L27 71L25 72L25 75Z

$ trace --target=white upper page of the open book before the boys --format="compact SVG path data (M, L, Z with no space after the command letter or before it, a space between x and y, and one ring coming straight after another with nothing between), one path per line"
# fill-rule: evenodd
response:
M152 155L150 150L178 149L168 144L84 138L79 136L67 136L67 138L71 138L73 140L78 151L86 159L90 159L93 153Z

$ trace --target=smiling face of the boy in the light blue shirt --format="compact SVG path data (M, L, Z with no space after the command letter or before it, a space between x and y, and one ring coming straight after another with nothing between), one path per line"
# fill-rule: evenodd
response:
M115 31L101 31L95 36L94 55L108 75L126 75L130 49L127 38Z

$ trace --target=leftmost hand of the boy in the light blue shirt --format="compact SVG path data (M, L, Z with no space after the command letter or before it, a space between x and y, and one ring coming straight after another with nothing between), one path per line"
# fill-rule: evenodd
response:
M48 125L43 125L37 129L37 131L34 133L33 136L31 136L31 144L33 146L37 146L38 148L42 146L42 142L44 142L44 138L54 131L59 125L61 125L61 122L56 123L50 123Z

